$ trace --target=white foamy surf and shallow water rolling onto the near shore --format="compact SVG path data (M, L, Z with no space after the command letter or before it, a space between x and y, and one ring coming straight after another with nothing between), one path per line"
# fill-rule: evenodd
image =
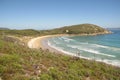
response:
M86 36L86 37L88 37L88 36ZM62 40L62 38L65 38L65 39ZM62 42L63 45L61 45L60 39L61 39L61 41L63 41ZM92 46L92 49L89 49L89 47L88 47L86 50L83 50L82 48L84 48L85 46L89 46L89 44L83 45L84 43L81 43L80 44L81 46L75 47L72 43L72 40L73 39L68 38L68 36L67 37L66 36L54 37L54 38L49 38L47 41L47 44L48 44L48 46L50 46L50 47L52 47L52 48L54 48L62 53L68 54L68 55L77 56L77 57L88 59L88 60L95 60L95 61L99 61L99 62L104 62L107 64L111 64L111 65L120 67L120 60L116 59L117 57L115 54L107 54L107 52L100 53L99 51L93 51L94 46L96 47L96 49L100 48L101 50L105 50L105 49L109 48L109 50L114 50L114 51L116 50L117 51L116 54L119 55L118 51L120 51L120 48L114 48L114 47L108 47L108 46L94 44L94 46ZM59 44L60 44L60 46L59 46ZM67 45L68 49L66 48L66 45ZM90 45L90 48L91 48L91 45ZM77 50L75 50L75 49L78 49L79 51L83 51L83 52L79 52L79 51L77 52ZM92 53L92 57L91 57L91 55L85 56L85 54L87 55L87 53L84 54L85 51L88 53ZM103 57L107 57L107 58L103 58L103 57L99 57L99 56L103 56Z

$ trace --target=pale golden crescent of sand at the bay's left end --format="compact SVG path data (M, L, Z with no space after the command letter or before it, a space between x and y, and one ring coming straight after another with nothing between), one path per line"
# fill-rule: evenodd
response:
M63 53L61 51L58 51L48 45L48 39L52 37L58 37L58 36L68 36L68 35L47 35L47 36L40 36L31 39L28 41L28 47L33 48L33 49L43 49L43 50L49 50L50 52L55 52L55 53Z

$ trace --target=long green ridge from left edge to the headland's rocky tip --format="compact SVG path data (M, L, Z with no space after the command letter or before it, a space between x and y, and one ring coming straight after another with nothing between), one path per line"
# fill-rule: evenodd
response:
M52 30L0 30L0 34L22 35L22 36L38 36L38 35L52 35L52 34L107 34L110 31L94 24L80 24L65 26Z

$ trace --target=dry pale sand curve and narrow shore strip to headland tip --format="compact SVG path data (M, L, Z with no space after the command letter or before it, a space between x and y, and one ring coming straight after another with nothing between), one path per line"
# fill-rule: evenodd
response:
M104 34L111 34L111 33L112 32L99 32L99 33L92 33L92 34L55 34L55 35L45 35L45 36L39 36L39 37L36 37L36 38L32 38L31 40L29 40L27 42L27 46L29 48L34 48L34 49L39 49L39 48L45 49L45 47L47 47L47 46L43 45L43 43L45 43L45 42L43 42L43 40L45 40L47 38L59 37L59 36L96 36L96 35L104 35ZM51 47L49 46L49 48L51 48Z

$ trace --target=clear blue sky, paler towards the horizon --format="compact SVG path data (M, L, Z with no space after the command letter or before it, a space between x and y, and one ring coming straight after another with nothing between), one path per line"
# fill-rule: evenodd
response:
M41 30L83 23L120 27L120 0L0 0L0 27Z

